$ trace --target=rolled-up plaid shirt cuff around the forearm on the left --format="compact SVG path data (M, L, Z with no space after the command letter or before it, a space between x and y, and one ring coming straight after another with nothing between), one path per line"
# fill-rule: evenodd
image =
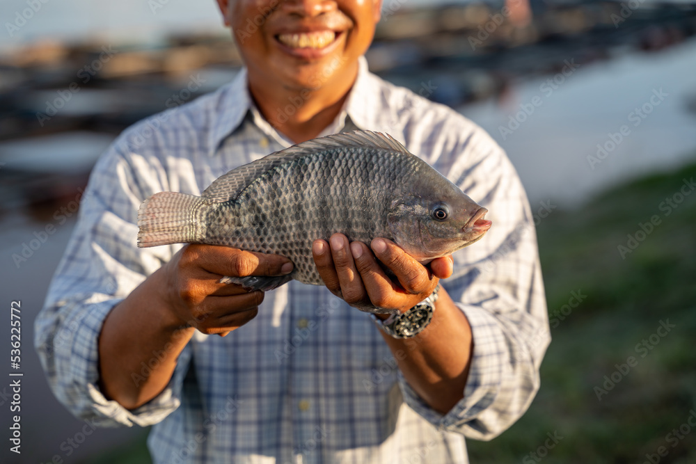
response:
M99 381L98 339L106 315L120 300L103 301L84 305L85 312L77 324L70 346L61 352L56 348L56 368L58 387L56 394L62 397L70 410L83 419L91 419L97 426L150 426L161 422L180 406L181 389L184 376L189 367L191 350L187 345L180 354L174 373L168 385L157 397L134 410L128 410L117 401L109 400L101 392ZM152 365L159 363L153 354ZM143 372L132 374L134 382L149 374L148 363ZM66 373L68 373L66 375ZM139 377L141 376L141 377Z

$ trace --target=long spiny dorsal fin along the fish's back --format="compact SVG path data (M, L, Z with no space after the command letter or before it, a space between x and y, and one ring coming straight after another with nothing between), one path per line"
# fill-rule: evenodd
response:
M285 150L271 153L262 159L232 169L229 173L214 180L201 196L216 203L235 200L248 184L251 184L254 179L268 170L322 150L340 147L372 147L409 153L404 145L396 141L395 138L381 132L353 131L351 134L333 134L298 143Z

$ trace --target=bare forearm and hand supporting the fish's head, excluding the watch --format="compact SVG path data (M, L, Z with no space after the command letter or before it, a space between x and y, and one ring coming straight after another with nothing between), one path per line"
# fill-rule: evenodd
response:
M358 241L349 245L343 234L333 234L329 243L313 243L319 275L333 294L356 307L372 305L406 312L431 294L439 279L452 275L452 257L423 266L386 239L372 240L372 250ZM380 262L397 281L386 275ZM464 312L445 289L440 290L436 307L432 323L415 339L380 333L406 382L429 406L445 414L464 397L473 342Z

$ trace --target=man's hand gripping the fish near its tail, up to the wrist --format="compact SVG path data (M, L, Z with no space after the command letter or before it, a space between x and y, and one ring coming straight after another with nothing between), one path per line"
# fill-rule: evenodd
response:
M173 320L224 337L256 317L264 292L221 284L220 278L289 274L292 262L280 255L226 246L187 245L164 267L161 298L171 308Z

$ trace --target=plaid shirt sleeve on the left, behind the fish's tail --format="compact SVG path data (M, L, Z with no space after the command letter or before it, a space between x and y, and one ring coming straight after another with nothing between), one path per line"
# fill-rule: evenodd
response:
M122 155L117 146L90 175L77 225L35 321L34 344L50 387L75 416L102 426L148 426L179 406L191 353L187 346L164 391L140 408L127 410L100 391L97 339L106 315L174 250L137 248L138 208L144 198L164 189L166 175L156 161ZM157 362L156 353L152 362ZM143 371L134 373L134 382L147 369L143 365Z

